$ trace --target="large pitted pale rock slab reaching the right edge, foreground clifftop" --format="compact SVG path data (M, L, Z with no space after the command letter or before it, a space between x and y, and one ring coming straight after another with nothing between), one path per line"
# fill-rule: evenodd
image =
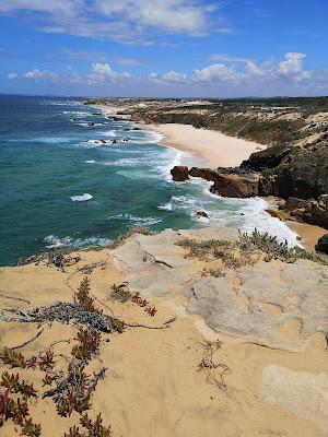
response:
M189 312L260 344L298 351L328 333L328 269L313 262L248 265L195 281L185 293Z

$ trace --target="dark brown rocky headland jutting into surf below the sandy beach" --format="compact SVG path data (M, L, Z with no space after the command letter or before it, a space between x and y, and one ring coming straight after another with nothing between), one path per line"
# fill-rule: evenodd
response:
M181 174L213 181L211 192L231 198L274 196L286 199L281 210L300 222L328 229L328 142L306 149L272 146L254 153L237 168L198 168L177 166Z

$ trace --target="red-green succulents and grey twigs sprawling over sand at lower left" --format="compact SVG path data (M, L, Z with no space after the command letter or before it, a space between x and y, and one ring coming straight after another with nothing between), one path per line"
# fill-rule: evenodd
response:
M156 308L140 296L131 293L126 284L114 285L110 298L120 303L132 304L141 307L150 317L157 312ZM2 321L16 321L39 324L50 324L54 321L71 324L77 329L72 340L55 341L46 350L34 356L25 356L16 351L38 338L34 335L28 342L14 349L2 347L0 362L9 368L19 369L20 373L4 371L0 381L0 428L7 421L12 421L20 426L21 435L38 437L42 435L42 426L33 421L30 414L31 400L33 405L39 399L51 399L56 405L57 414L61 417L70 417L72 414L80 416L80 425L74 425L65 433L63 437L109 437L110 426L103 425L103 418L98 414L95 420L87 416L86 412L92 408L92 398L96 386L106 376L107 368L101 359L101 346L105 334L124 332L126 328L166 329L175 319L169 319L161 326L145 326L129 322L126 323L113 315L106 315L95 303L96 298L91 294L91 282L85 276L73 293L73 303L59 302L48 307L23 310L19 308L5 308L0 314ZM105 305L106 308L112 309ZM7 315L8 312L9 315ZM39 331L40 332L40 331ZM55 354L54 345L60 342L73 345L69 354ZM107 340L108 341L108 340ZM65 363L65 365L63 365ZM90 368L94 369L90 373ZM34 385L23 379L31 378L31 371L40 373L42 385ZM45 389L46 387L46 389Z

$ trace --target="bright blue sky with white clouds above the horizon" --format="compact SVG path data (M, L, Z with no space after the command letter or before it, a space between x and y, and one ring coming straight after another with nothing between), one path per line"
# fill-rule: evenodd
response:
M0 93L328 95L328 0L0 0Z

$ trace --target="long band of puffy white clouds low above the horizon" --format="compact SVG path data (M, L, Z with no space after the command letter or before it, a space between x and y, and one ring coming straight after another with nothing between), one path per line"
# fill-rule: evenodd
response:
M84 52L79 56L84 57ZM25 73L12 72L9 79L26 78L35 81L49 81L62 85L79 85L81 90L110 90L115 84L117 87L129 87L129 91L137 94L137 91L151 94L152 90L174 90L190 92L199 95L207 88L207 92L239 95L260 95L257 90L261 90L261 95L268 94L309 94L324 90L328 92L328 71L307 71L303 69L304 54L284 55L284 59L274 62L272 59L265 62L247 60L245 62L212 63L200 69L195 69L187 74L184 71L167 71L165 73L152 72L148 76L133 75L128 71L117 71L109 62L93 62L89 73L80 73L72 67L67 67L65 71L55 73L48 70L35 68ZM242 59L242 58L241 58ZM246 58L245 58L246 59ZM138 86L136 86L138 85ZM156 88L157 86L157 88ZM155 91L155 92L157 92ZM161 91L160 91L161 94ZM186 95L186 94L185 94Z

